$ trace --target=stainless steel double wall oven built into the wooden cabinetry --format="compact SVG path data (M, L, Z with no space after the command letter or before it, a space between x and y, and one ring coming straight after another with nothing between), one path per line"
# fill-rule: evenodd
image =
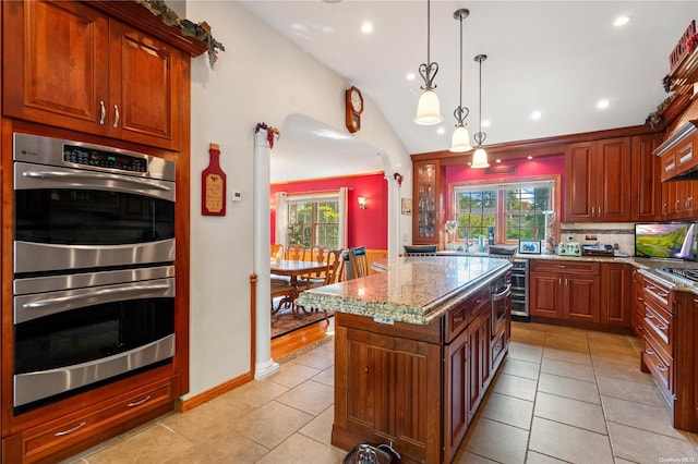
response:
M14 134L16 413L169 363L174 163Z

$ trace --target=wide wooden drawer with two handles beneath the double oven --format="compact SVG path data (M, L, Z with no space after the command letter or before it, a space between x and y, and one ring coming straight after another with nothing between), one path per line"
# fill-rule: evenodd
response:
M45 459L116 424L170 403L172 379L116 396L84 415L75 414L28 429L22 434L23 462Z

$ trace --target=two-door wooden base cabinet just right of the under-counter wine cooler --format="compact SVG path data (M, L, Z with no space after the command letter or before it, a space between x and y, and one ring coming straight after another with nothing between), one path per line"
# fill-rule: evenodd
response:
M600 321L598 262L532 259L530 277L532 317Z

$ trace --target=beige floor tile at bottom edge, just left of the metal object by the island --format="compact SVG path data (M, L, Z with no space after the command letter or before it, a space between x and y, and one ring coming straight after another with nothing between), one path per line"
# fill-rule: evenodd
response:
M347 451L327 447L300 434L293 434L269 454L257 461L258 464L308 464L340 463Z

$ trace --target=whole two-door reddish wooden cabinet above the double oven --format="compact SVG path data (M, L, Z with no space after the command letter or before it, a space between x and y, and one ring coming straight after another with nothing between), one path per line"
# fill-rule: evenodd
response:
M4 115L179 150L180 50L88 3L2 8Z

